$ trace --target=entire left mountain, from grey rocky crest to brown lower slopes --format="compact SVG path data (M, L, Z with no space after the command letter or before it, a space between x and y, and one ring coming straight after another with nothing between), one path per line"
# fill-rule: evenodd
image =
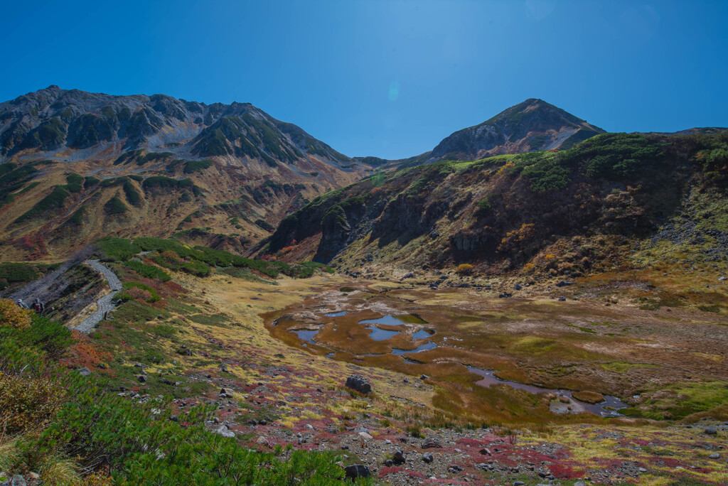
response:
M250 103L41 89L0 103L0 255L62 257L101 236L242 251L370 167Z

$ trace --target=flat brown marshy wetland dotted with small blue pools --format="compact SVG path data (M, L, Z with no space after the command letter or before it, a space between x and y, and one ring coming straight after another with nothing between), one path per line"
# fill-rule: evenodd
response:
M728 399L728 319L705 317L357 282L289 306L267 327L312 354L424 375L433 405L473 419L662 420Z

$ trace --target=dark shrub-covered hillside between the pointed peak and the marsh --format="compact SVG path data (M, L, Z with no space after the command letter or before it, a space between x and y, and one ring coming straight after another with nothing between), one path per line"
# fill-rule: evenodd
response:
M690 214L690 231L725 258L727 154L728 132L602 134L566 151L411 167L314 199L282 220L269 251L372 273L576 272L616 264L629 239Z

